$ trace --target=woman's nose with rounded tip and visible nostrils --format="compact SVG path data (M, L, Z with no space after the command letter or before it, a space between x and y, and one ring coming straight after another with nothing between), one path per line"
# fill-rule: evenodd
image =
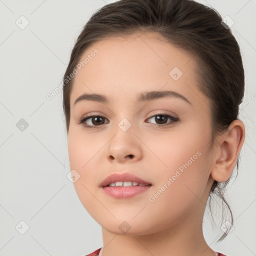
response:
M123 131L118 127L108 143L107 157L109 161L137 161L142 157L141 146L142 142L132 132L132 128Z

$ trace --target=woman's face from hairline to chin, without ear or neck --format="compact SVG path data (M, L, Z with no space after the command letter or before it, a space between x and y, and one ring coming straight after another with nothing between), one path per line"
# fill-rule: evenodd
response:
M198 89L193 56L144 33L98 41L80 60L86 57L70 94L68 154L88 213L116 234L122 227L149 234L200 219L213 182L213 152L210 102ZM84 97L75 103L84 93L108 102ZM125 198L107 194L100 183L124 172L150 185Z

